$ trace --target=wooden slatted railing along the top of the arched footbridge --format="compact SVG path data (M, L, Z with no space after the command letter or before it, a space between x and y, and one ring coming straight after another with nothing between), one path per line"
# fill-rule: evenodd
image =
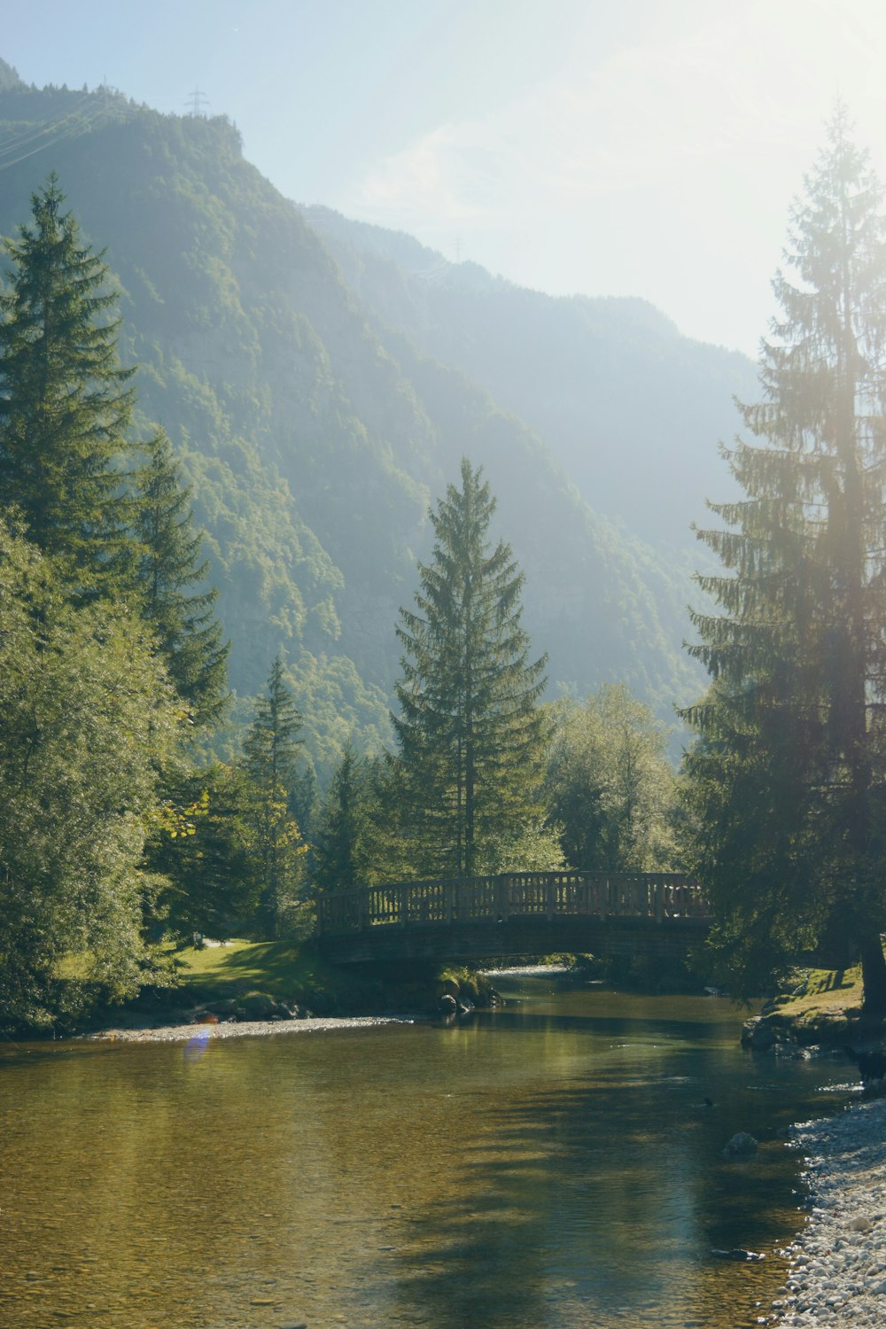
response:
M401 881L323 894L317 902L323 934L569 914L660 924L708 916L700 888L688 877L665 872L509 872Z

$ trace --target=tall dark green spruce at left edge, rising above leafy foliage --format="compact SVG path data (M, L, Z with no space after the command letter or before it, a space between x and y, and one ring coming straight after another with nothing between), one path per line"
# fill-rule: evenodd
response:
M118 464L134 371L120 367L108 266L62 203L50 175L32 195L32 223L4 242L0 506L15 504L28 540L89 590L132 571Z

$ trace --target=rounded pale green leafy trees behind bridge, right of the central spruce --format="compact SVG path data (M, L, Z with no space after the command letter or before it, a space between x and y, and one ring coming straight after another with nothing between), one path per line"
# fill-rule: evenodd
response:
M545 793L573 868L656 872L675 867L675 776L668 734L623 684L553 708Z

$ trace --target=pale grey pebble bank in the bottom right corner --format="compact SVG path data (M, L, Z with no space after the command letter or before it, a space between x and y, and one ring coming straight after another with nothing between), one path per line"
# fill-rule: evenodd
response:
M781 1325L886 1324L886 1099L794 1127L813 1209L789 1248Z

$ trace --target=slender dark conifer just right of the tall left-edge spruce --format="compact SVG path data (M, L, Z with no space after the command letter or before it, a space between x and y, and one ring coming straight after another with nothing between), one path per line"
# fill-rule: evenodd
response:
M190 488L182 485L169 439L158 431L141 451L145 464L135 473L139 607L178 695L193 707L197 723L207 723L224 704L228 647L213 611L218 590L194 590L209 563L201 561Z

